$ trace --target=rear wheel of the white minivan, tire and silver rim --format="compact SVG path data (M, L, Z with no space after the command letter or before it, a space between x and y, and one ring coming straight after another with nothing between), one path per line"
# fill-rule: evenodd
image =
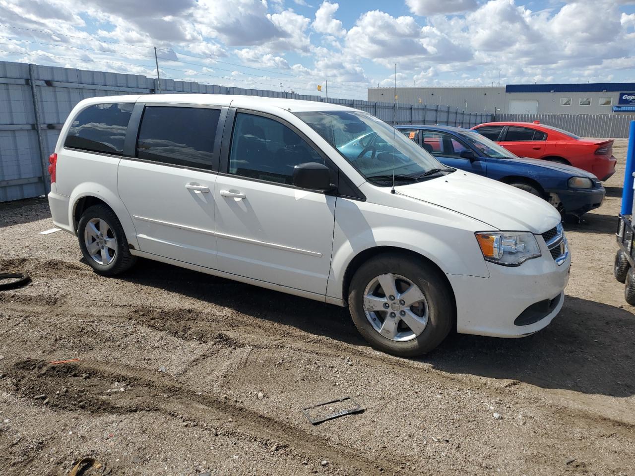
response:
M77 237L84 258L98 274L119 274L137 260L130 254L117 215L105 205L91 206L84 211L77 226Z

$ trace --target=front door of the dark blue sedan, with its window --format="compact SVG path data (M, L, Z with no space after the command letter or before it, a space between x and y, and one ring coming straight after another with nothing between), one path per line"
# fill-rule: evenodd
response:
M474 159L464 159L461 157L462 150L472 150L455 136L441 131L421 131L422 145L425 150L439 159L443 164L476 173L487 175L485 159L476 155ZM473 151L472 151L473 152Z

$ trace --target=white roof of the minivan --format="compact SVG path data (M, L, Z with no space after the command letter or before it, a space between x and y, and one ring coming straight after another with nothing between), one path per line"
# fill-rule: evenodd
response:
M222 94L151 94L141 96L107 96L105 98L91 98L91 102L132 102L140 101L145 103L186 103L204 104L232 107L244 107L248 109L267 109L277 107L279 109L290 110L291 112L302 112L311 110L357 110L339 104L324 103L319 101L304 101L299 99L283 98L263 98L260 96L237 96Z

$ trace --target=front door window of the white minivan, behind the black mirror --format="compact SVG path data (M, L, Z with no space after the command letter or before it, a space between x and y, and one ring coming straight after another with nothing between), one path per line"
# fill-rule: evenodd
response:
M304 162L323 164L324 159L281 122L236 114L229 173L291 185L293 168Z

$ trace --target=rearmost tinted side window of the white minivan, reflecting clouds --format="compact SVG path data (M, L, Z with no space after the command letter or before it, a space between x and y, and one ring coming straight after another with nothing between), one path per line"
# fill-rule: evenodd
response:
M134 103L89 106L70 125L64 147L91 152L123 153L126 129Z

